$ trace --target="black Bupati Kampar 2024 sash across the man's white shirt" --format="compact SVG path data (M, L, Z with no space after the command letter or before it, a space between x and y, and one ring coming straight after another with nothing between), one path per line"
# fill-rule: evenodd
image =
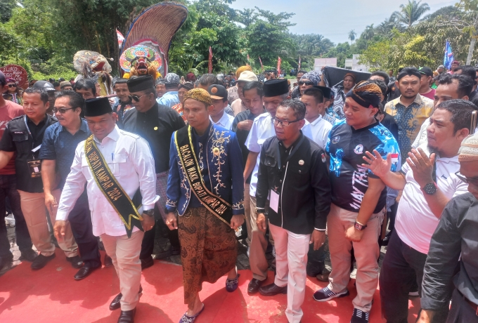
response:
M93 135L86 139L84 152L96 184L106 199L108 199L113 209L118 213L118 216L120 216L126 227L128 237L131 237L134 226L143 231L143 226L141 225L143 218L138 213L136 206L134 206L127 193L124 192L123 187L121 187L120 183L117 182L115 176L111 173L108 164L93 140Z

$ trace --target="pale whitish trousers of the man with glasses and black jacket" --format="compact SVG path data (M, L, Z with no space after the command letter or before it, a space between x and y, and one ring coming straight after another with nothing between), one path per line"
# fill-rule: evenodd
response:
M287 308L285 316L290 323L299 323L302 319L305 283L307 279L307 252L311 235L297 235L293 232L269 223L269 230L276 246L276 279L274 284L287 285Z

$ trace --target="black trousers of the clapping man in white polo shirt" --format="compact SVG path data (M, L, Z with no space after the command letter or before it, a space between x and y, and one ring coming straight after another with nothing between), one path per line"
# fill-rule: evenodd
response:
M387 323L407 323L408 292L416 279L418 294L422 296L423 269L427 255L408 246L392 233L380 270L380 299L382 315ZM448 308L437 313L434 322L445 322Z

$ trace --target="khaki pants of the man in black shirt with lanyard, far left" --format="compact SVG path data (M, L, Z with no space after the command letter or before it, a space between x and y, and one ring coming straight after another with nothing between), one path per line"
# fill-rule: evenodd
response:
M45 194L20 190L18 192L20 193L20 206L25 216L32 243L42 255L51 256L55 253L55 245L51 242L48 220L46 219ZM56 214L49 214L49 216L51 223L55 225ZM65 237L58 241L58 246L65 251L68 258L78 256L78 246L73 238L69 222L66 225Z

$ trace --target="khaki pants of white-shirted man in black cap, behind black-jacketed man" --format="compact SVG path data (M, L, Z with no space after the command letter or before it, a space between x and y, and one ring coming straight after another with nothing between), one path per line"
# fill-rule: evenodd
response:
M251 227L254 223L254 227L251 228L252 231L250 234L251 242L249 246L249 265L252 271L252 278L259 279L261 281L267 279L267 268L269 268L269 263L267 263L266 250L267 250L267 239L266 235L257 228L257 214L256 214L256 197L250 197L250 222ZM269 201L266 203L266 209L269 208ZM249 221L247 222L249 223ZM268 221L266 221L268 223ZM249 225L247 225L247 230L249 230ZM249 233L248 233L249 235ZM271 233L269 232L269 241L274 245L274 240ZM275 265L276 261L273 261Z

